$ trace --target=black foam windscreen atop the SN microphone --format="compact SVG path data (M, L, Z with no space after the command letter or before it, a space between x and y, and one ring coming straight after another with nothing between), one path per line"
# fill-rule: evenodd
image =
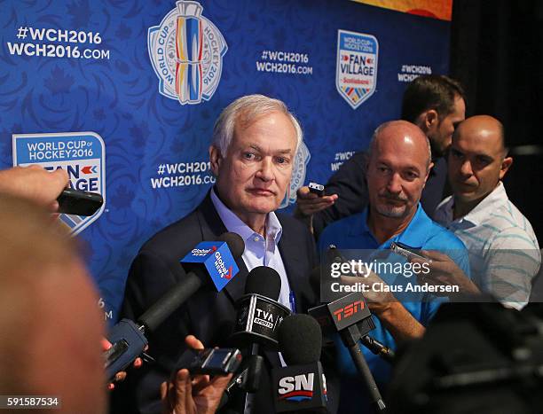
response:
M279 351L287 365L315 363L320 359L322 333L319 323L309 315L287 316L279 324Z

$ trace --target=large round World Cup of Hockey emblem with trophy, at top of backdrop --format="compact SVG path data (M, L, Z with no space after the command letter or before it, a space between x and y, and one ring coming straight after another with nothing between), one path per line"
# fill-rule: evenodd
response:
M200 104L213 96L228 50L223 35L202 11L197 2L179 1L147 36L159 91L181 105Z

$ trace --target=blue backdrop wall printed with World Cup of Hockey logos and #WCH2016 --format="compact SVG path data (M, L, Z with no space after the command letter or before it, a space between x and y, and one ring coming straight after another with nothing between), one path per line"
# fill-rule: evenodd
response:
M72 185L105 194L96 216L63 220L86 241L108 320L138 248L212 185L213 123L234 98L282 99L301 121L295 194L397 118L413 76L448 68L449 22L348 0L0 8L0 166L67 168Z

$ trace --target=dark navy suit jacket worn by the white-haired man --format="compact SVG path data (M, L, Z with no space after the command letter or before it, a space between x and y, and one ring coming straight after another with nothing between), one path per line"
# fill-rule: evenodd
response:
M279 252L287 270L288 282L295 293L296 309L305 312L317 302L309 283L311 269L317 264L314 240L306 227L294 218L281 214L278 214L278 218L283 228ZM179 259L201 241L216 240L225 231L208 194L193 213L150 238L141 247L130 268L121 317L136 320L183 277L178 271ZM238 259L237 264L240 273L221 293L211 288L201 288L150 335L149 354L156 359L156 363L130 371L128 378L114 392L115 412L161 412L160 384L179 368L177 361L185 351L186 335L195 335L206 347L229 345L228 338L236 318L234 303L245 292L248 275L243 259ZM277 355L266 353L268 371L279 364ZM255 413L273 412L268 380L264 378L256 396ZM237 407L238 411L242 412L242 409Z

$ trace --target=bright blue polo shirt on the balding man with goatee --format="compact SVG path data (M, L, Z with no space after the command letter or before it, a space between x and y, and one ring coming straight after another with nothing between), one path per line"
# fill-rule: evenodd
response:
M413 216L411 223L395 237L390 238L381 245L374 238L371 230L367 227L368 209L358 215L350 215L335 223L329 224L322 232L319 238L319 252L323 253L328 246L334 245L339 249L374 249L385 250L390 248L390 243L400 242L416 249L437 250L443 252L456 262L460 269L469 276L468 251L464 244L449 230L430 220L421 204L417 207L417 212ZM383 281L389 285L402 283L399 277L390 275L379 275ZM401 277L405 280L405 277ZM411 280L416 283L416 278ZM402 301L401 295L394 293L399 301ZM402 301L405 309L411 313L422 325L426 326L429 320L437 311L439 303L443 298L437 298L431 293L410 293L410 301ZM375 340L379 340L389 348L396 349L396 343L382 326L378 317L373 316L375 329L369 332ZM340 401L339 412L371 412L369 402L366 397L366 388L358 376L358 371L350 358L349 351L340 340L336 341L338 347L338 368L342 378L342 398ZM378 355L374 355L363 345L360 345L370 370L374 374L382 394L384 394L386 384L390 379L390 363L382 360ZM364 394L364 397L360 395Z

